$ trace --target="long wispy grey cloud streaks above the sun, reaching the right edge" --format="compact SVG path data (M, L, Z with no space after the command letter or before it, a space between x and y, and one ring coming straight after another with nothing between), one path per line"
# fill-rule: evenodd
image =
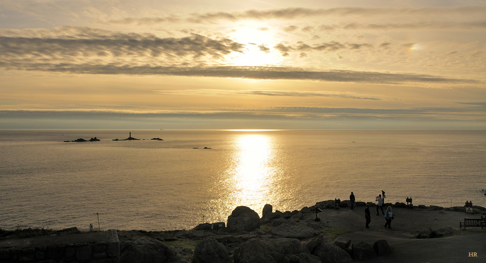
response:
M454 22L436 22L431 21L431 17L476 17L478 19L484 18L486 7L484 6L458 6L458 7L430 7L430 8L360 8L360 7L343 7L330 9L310 9L310 8L282 8L270 10L247 10L243 12L214 12L197 14L193 13L189 16L168 16L168 17L142 17L142 18L123 18L118 20L109 20L108 23L113 24L149 24L162 22L179 22L185 20L191 23L205 23L215 22L218 20L238 21L242 19L301 19L313 16L319 17L366 17L366 18L394 18L394 17L416 17L423 18L423 22L414 23L384 23L384 24L367 24L359 25L348 23L348 28L403 28L403 27L484 27L484 20L457 23ZM343 27L343 26L341 26ZM346 26L344 26L346 27Z

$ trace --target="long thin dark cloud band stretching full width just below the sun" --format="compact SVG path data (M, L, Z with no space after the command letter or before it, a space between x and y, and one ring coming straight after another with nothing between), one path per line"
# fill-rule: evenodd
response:
M105 75L169 75L218 78L243 78L258 80L312 80L326 82L361 82L380 84L420 84L431 83L461 84L483 86L484 83L471 79L452 79L425 74L385 73L372 71L326 70L310 71L298 67L277 66L133 66L123 65L92 65L74 63L35 63L6 64L0 61L0 68L18 70L38 70L75 74L105 74Z

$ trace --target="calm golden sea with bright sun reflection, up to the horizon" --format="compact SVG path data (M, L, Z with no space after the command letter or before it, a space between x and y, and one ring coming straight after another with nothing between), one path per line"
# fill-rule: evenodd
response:
M0 130L0 228L190 230L351 192L486 207L485 175L486 131Z

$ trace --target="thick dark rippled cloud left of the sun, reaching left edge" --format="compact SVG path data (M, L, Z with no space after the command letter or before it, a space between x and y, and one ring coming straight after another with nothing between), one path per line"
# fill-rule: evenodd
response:
M0 58L5 66L20 61L64 64L90 59L123 61L129 57L141 60L158 57L174 60L210 57L221 60L231 52L243 52L243 48L244 45L228 38L212 39L199 34L181 38L159 38L136 33L58 37L0 36Z

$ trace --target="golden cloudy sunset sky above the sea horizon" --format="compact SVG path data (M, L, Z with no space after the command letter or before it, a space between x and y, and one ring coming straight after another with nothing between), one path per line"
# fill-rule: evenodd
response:
M486 0L2 0L0 129L486 129Z

